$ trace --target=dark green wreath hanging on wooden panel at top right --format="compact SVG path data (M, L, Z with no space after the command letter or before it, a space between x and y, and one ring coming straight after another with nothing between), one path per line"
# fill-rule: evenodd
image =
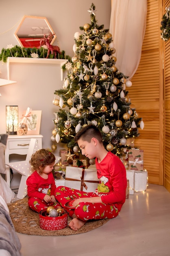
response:
M165 9L166 13L162 17L160 29L161 38L166 42L170 38L170 6Z

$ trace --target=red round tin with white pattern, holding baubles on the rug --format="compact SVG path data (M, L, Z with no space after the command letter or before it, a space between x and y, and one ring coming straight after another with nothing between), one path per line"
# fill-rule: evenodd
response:
M65 210L64 210L65 211ZM39 212L39 227L45 230L58 230L64 229L68 225L68 213L62 216L50 217L46 210L41 210Z

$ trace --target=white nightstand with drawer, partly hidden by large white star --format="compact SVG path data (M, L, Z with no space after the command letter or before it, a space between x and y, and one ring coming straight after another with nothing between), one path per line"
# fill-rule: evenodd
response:
M26 155L31 138L36 138L39 148L42 148L42 135L9 135L5 148L5 164L9 163L9 155ZM10 186L10 170L6 165L6 180Z

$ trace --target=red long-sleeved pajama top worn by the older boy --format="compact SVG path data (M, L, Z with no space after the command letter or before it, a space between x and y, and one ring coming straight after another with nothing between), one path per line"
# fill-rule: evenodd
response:
M101 196L105 204L115 204L120 209L126 199L126 169L120 158L111 152L98 163L96 158L96 169L100 183L95 193Z

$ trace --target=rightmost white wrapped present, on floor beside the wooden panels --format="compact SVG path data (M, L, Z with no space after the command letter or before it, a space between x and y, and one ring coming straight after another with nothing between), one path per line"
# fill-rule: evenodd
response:
M145 191L148 186L148 172L135 171L135 191Z

